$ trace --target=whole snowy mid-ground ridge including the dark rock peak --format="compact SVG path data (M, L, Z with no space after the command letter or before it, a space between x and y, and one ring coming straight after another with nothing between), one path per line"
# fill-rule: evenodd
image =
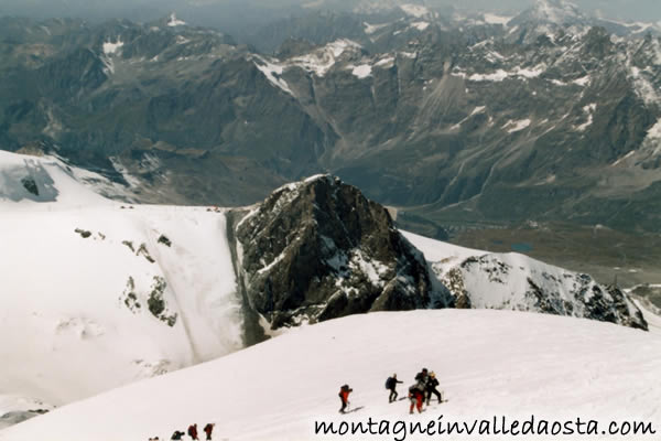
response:
M0 152L3 424L353 313L491 308L647 327L619 290L402 234L327 175L231 211L99 192L131 197L61 159Z

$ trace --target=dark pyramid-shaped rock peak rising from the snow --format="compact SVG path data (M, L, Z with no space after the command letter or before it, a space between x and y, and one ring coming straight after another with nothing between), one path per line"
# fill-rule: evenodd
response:
M280 187L236 227L251 309L272 329L443 305L388 211L339 179Z

